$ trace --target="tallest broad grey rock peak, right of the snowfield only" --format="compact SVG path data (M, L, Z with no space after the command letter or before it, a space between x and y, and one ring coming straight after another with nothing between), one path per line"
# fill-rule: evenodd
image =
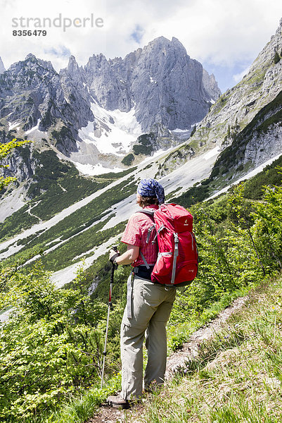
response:
M171 41L158 37L143 47L132 69L132 92L135 104L146 97L146 109L136 107L144 130L155 128L152 116L156 114L159 125L170 130L188 129L205 116L209 102L221 94L215 80L210 80L203 66L188 56L175 37Z

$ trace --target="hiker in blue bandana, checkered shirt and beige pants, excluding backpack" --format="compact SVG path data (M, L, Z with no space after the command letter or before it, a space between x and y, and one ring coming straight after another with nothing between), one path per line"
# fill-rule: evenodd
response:
M165 191L155 179L143 179L137 188L136 202L146 209L158 209L165 202ZM167 362L167 332L176 294L174 286L153 283L150 272L157 260L157 243L146 243L153 219L144 213L133 214L122 235L127 251L122 255L110 250L110 260L117 265L132 264L134 277L127 282L127 307L122 319L120 345L122 359L122 391L108 397L114 407L127 408L130 401L140 400L143 388L143 339L146 332L148 364L144 376L145 391L150 384L164 383ZM147 269L145 262L150 266Z

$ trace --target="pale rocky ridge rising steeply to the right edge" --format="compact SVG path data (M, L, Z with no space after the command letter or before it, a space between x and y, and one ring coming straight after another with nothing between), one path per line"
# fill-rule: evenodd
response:
M243 129L259 109L271 102L282 90L282 61L274 62L276 51L282 51L282 18L275 35L259 53L250 66L248 73L231 90L227 90L221 99L212 106L210 113L205 116L198 126L194 140L202 135L206 142L225 142L228 145L231 138L222 140L228 132L228 125L235 126L236 119ZM228 117L228 121L227 121ZM222 125L219 128L217 125ZM214 140L212 127L217 126L217 140Z

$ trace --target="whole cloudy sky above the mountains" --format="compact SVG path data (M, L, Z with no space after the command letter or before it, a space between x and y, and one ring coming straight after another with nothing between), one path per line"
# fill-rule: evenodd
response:
M84 66L93 54L124 57L156 37L177 37L225 92L276 32L282 1L0 0L0 11L6 69L32 53L59 71L71 54Z

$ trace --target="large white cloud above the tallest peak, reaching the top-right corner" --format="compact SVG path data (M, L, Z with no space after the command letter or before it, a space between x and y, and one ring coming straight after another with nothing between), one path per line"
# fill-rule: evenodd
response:
M146 42L158 35L174 36L191 57L233 66L259 53L281 16L277 0L198 0L148 27Z

